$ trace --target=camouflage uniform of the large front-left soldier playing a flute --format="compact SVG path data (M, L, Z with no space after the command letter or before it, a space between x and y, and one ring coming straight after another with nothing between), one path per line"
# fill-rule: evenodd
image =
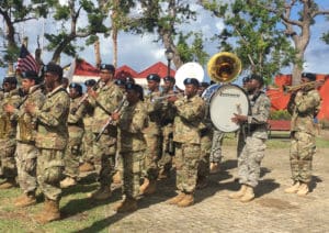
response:
M43 107L35 109L32 114L37 119L37 181L46 199L53 201L60 200L61 196L59 181L63 179L64 154L68 142L69 104L68 93L59 86L47 93Z

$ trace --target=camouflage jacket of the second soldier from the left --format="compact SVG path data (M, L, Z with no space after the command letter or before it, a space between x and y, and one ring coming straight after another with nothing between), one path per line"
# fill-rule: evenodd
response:
M24 143L35 142L36 136L36 118L25 112L27 103L34 103L36 108L42 108L45 102L45 95L39 85L30 88L29 93L23 98L20 109L13 113L19 122L16 140Z

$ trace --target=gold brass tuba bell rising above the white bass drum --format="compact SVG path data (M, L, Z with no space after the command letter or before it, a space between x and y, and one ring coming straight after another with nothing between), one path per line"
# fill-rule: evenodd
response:
M239 57L232 53L222 52L212 56L207 64L207 71L215 82L232 81L241 71Z

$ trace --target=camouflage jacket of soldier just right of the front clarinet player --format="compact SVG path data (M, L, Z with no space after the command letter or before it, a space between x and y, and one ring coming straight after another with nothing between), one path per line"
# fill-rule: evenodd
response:
M161 125L161 101L155 101L155 98L160 97L160 91L149 92L145 96L144 102L146 104L147 114L149 116L148 127L145 130L145 133L149 135L159 135L160 125Z

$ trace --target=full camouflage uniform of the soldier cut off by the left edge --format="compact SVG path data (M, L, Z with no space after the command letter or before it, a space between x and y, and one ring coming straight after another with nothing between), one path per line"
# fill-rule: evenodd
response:
M0 107L0 175L8 179L14 179L18 175L14 158L16 147L16 120L5 113L3 108L5 104L18 108L21 99L19 89L11 90L4 93Z

